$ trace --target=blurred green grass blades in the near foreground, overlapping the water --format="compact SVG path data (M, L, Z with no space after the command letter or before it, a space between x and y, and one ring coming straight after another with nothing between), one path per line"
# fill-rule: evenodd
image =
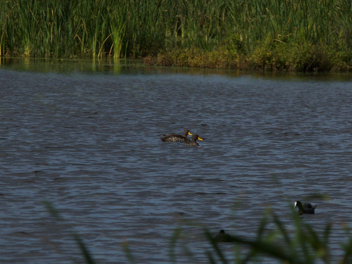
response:
M45 205L50 214L56 220L62 220L57 210L49 202ZM332 230L332 224L328 223L322 230L317 232L314 227L307 222L303 221L297 212L291 209L291 222L294 224L294 229L288 229L284 223L279 220L278 216L267 209L260 221L255 238L244 237L240 235L231 235L231 241L227 244L233 244L234 256L232 257L234 263L247 263L252 260L260 262L260 259L265 256L265 259L276 260L281 263L315 263L321 261L323 263L351 263L352 261L352 237L350 230L346 227L347 241L341 243L341 252L339 261L338 256L334 256L329 251L329 239ZM187 221L184 222L188 227L192 224ZM269 227L269 224L274 223L275 227ZM194 226L194 225L192 225ZM205 240L210 248L205 245L204 254L209 260L209 263L229 263L230 260L225 255L224 247L220 247L220 243L216 241L216 237L207 228L200 227L200 232L203 233ZM73 238L79 246L87 263L94 263L92 255L89 253L87 246L83 243L82 239L77 233L73 234ZM177 263L180 251L182 256L187 257L190 261L195 261L194 256L189 244L191 239L189 234L186 234L182 227L175 229L169 248L169 258L172 263ZM128 247L128 243L122 244L126 258L130 263L136 263L137 260L133 257ZM161 249L164 250L164 249ZM177 253L176 253L177 251Z

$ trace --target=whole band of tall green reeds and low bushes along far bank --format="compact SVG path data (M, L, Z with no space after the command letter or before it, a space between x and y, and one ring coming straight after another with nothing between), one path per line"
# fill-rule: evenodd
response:
M0 56L5 54L350 70L352 5L346 0L4 0Z

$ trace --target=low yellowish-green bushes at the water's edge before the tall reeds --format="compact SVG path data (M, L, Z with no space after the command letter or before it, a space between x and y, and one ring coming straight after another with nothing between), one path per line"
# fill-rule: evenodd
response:
M261 71L351 71L352 61L323 43L273 43L263 41L249 54L231 52L226 46L213 51L175 49L144 58L147 65Z

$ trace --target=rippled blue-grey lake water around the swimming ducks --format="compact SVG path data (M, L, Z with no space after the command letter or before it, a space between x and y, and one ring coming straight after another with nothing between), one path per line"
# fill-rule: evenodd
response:
M74 233L98 263L129 263L125 246L167 263L177 228L177 263L207 263L202 227L254 238L271 207L294 230L296 200L318 205L301 219L317 231L333 222L338 260L351 117L351 75L2 60L1 263L82 263ZM200 147L159 139L185 128Z

